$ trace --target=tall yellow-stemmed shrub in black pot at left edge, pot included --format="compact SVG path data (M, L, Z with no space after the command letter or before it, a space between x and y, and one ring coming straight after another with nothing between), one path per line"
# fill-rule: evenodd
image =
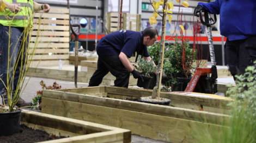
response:
M6 5L3 2L0 2L0 8L1 11L8 17L7 12L3 7ZM24 11L28 12L28 11ZM15 17L16 14L14 14L13 17ZM9 19L9 29L11 29L11 23L13 22L13 18L8 18ZM28 50L27 47L29 47L30 39L32 35L29 35L33 29L31 28L33 25L31 25L31 22L33 21L33 15L28 17L28 22L26 23L27 25L25 26L23 30L23 37L15 37L12 32L12 30L3 30L2 32L8 32L9 37L5 37L9 39L9 44L6 49L8 49L8 65L7 65L7 77L6 79L0 76L0 82L3 82L3 85L7 92L2 95L2 99L4 96L8 97L8 105L9 107L5 106L5 103L3 102L3 105L0 106L0 136L9 136L13 135L15 133L20 132L20 118L21 118L21 110L20 108L14 108L16 103L20 100L21 95L23 93L23 90L26 88L26 83L25 83L25 77L28 72L28 68L32 62L32 57L35 52L35 47L31 48ZM39 18L39 26L40 26L40 18ZM38 34L39 34L39 29L36 35L36 41L35 45L38 40ZM12 38L19 38L21 41L20 47L17 47L16 43L11 42L11 37ZM1 39L3 40L3 39ZM14 49L19 49L19 52L17 53L16 59L12 58L14 56L15 50L10 50L11 46L15 46ZM3 57L2 57L3 58ZM14 59L11 60L11 59ZM14 65L11 65L14 63ZM19 68L18 68L19 67ZM19 78L14 77L14 75L19 72ZM15 74L14 74L15 73ZM14 81L17 82L16 87L14 86ZM29 81L29 80L28 80ZM28 82L27 81L27 82ZM20 89L21 90L20 90ZM2 89L1 89L2 90ZM3 100L4 101L4 100ZM24 108L24 107L23 107Z

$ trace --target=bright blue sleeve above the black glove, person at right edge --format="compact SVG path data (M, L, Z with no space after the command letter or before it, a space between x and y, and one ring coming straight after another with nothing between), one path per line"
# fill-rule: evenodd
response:
M210 14L220 14L220 3L219 0L215 0L211 3L198 3L198 5L201 5L203 9L210 12Z

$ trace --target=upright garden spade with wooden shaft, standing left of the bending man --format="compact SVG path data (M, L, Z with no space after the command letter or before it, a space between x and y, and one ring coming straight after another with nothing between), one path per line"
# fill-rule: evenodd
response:
M78 27L78 32L75 32L73 27ZM80 35L81 26L80 24L70 24L70 29L74 36L76 37L75 40L75 87L77 88L77 70L78 70L78 38Z

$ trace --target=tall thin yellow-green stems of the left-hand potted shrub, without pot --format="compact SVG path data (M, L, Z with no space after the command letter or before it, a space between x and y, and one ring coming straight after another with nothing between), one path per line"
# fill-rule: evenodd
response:
M7 65L7 81L4 82L2 80L2 78L0 78L1 82L3 82L3 85L5 87L5 89L7 90L7 92L5 93L8 97L8 105L9 105L9 110L6 112L12 112L13 111L13 108L14 106L16 105L16 103L19 101L19 99L21 98L21 95L24 91L24 89L26 88L27 86L27 83L29 80L27 80L25 83L25 76L27 75L27 72L28 72L28 69L29 67L31 66L31 63L32 63L32 59L33 59L33 55L35 53L35 47L37 46L38 44L38 35L39 35L39 31L40 31L40 21L41 21L41 18L39 17L38 19L38 25L39 25L39 28L38 30L36 31L36 36L35 37L35 47L31 48L30 50L28 50L30 48L29 44L31 42L31 37L32 37L32 31L34 30L32 27L33 27L33 15L29 15L29 10L28 9L21 9L23 11L23 13L26 13L25 15L29 15L27 18L27 22L24 22L24 29L23 29L23 33L22 35L20 35L20 37L14 37L13 38L17 38L17 40L20 40L21 41L21 44L20 44L20 47L17 47L17 43L13 43L11 41L11 37L12 37L12 33L11 33L11 23L13 23L14 19L15 19L15 16L17 14L14 14L12 12L9 11L5 11L6 9L3 9L1 8L3 14L5 15L5 17L8 17L6 18L8 23L9 23L9 31L3 31L3 32L7 32L8 35L9 35L9 44L8 44L8 47L6 49L8 49L8 59L9 62L8 62L8 65ZM2 30L2 29L1 29ZM15 64L14 66L12 67L11 66L11 62L12 62L12 58L15 54L15 50L13 51L13 53L11 53L10 51L10 46L14 46L15 45L15 49L16 48L19 48L19 51L17 53L17 57L15 58ZM28 48L29 47L29 48ZM16 62L16 61L20 61L20 62ZM20 65L20 68L18 68L18 66ZM19 79L15 79L14 75L15 74L12 74L12 73L15 73L15 72L18 72L17 70L19 69L19 72L20 72L20 75L19 75ZM36 68L35 68L36 69ZM35 70L34 70L35 71ZM33 75L34 72L32 72L31 76ZM1 76L1 75L0 75ZM30 79L30 77L29 77ZM17 89L16 87L14 87L13 83L14 83L14 80L17 80ZM20 90L20 89L21 90ZM5 105L4 105L5 106Z

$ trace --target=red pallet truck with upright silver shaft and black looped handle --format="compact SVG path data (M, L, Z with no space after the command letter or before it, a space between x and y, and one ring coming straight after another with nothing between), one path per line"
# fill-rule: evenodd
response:
M202 12L204 12L204 19ZM208 11L201 10L200 12L200 21L203 25L207 27L206 33L208 35L209 50L211 57L211 68L197 68L196 73L194 73L193 78L190 83L188 83L185 92L200 92L200 93L217 93L217 68L215 61L214 53L214 43L212 41L211 25L214 25L217 21L216 14L214 19L211 18L211 15ZM211 77L209 77L211 74Z

